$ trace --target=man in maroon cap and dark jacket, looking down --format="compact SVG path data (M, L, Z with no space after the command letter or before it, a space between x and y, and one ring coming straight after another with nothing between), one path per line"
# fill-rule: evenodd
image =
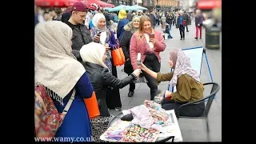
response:
M83 24L86 18L86 6L82 2L75 2L72 6L70 19L66 22L73 30L72 37L72 53L82 63L79 50L82 46L92 42L90 31L87 26ZM98 40L98 39L97 39Z

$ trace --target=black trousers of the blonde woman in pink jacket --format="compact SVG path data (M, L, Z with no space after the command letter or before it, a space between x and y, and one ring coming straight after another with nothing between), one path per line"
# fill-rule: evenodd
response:
M158 61L158 57L155 54L147 54L143 64L154 72L160 71L161 63ZM156 85L156 80L149 74L146 74L146 72L143 70L142 75L146 78L147 86L150 87L150 100L154 100L154 96L158 94L158 86Z

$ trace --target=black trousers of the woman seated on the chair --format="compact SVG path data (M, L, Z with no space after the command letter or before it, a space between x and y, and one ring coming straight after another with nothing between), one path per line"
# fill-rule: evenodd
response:
M167 100L163 99L162 100L162 108L164 110L174 110L175 114L178 112L179 106L182 106L184 103L180 102L174 102L173 100ZM205 110L205 103L199 103L198 105L188 105L188 106L183 106L179 110L179 115L181 116L189 116L189 117L198 117L203 114Z

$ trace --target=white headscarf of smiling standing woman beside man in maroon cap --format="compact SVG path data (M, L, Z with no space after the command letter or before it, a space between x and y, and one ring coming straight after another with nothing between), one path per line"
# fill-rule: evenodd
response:
M105 16L102 14L102 13L98 13L98 14L95 14L94 15L94 18L92 19L92 23L94 25L94 27L91 29L92 31L92 37L94 38L95 35L97 35L99 32L106 32L106 41L105 43L109 43L110 41L110 30L108 30L105 26L105 29L104 30L101 30L98 28L98 21L101 19L101 18L105 18ZM104 44L104 43L102 43Z

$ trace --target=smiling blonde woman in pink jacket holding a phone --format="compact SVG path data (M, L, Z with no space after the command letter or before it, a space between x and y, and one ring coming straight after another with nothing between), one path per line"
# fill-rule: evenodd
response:
M143 15L140 18L138 31L130 39L130 61L134 70L138 69L138 53L141 54L141 62L150 70L159 72L161 66L160 52L166 49L166 43L162 38L162 33L154 30L151 20L148 16ZM156 81L149 74L142 71L147 80L147 86L150 87L150 100L154 100L157 95L158 86Z

